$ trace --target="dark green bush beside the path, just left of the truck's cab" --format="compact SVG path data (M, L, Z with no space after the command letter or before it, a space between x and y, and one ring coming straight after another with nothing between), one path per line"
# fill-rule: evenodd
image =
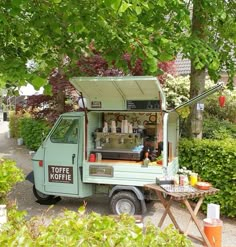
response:
M20 119L20 133L25 146L30 150L37 150L50 130L43 120L23 117Z

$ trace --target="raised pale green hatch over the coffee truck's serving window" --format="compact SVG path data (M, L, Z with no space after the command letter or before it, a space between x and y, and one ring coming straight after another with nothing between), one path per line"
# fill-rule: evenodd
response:
M159 110L166 107L165 96L156 77L74 77L70 82L82 92L88 109L130 110L133 107L140 110L137 107L146 107L148 102L159 102Z

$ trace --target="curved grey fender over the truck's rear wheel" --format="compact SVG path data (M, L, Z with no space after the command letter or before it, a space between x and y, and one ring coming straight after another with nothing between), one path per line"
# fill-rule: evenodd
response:
M116 185L110 191L109 198L111 198L116 191L122 191L122 190L123 191L124 190L125 191L132 191L137 196L137 198L140 200L142 213L144 214L144 213L147 212L147 207L146 207L146 203L145 203L145 198L144 198L143 192L139 188L137 188L135 186Z

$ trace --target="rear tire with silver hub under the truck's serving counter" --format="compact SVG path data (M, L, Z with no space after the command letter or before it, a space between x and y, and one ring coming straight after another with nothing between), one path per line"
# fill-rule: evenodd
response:
M113 214L135 215L141 212L141 203L133 192L120 191L112 196L110 208Z

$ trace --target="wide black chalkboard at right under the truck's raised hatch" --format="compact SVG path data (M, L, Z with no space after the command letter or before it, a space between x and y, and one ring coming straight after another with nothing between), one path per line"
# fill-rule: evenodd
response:
M160 100L127 100L127 110L160 110Z

